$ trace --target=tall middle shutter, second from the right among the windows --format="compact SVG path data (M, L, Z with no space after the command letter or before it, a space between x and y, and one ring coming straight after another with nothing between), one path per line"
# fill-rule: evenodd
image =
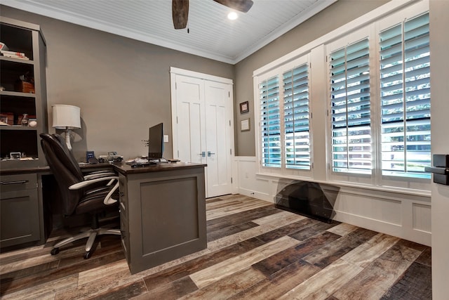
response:
M333 171L371 174L368 38L330 53Z

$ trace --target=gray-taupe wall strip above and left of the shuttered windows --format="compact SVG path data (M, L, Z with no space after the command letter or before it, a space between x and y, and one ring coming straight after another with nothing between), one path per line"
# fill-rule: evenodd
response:
M386 2L388 0L339 0L236 64L236 85L234 88L234 99L236 101L236 105L234 105L236 107L236 115L234 117L236 120L236 155L255 155L254 129L256 125L254 124L253 108L253 71L372 11L378 6L382 6ZM238 109L239 103L243 101L249 101L250 112L241 115ZM242 132L240 131L240 121L248 117L250 118L250 131Z

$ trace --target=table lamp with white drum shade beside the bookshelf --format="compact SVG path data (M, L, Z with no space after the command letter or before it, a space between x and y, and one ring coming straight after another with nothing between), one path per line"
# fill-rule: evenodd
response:
M81 128L81 109L74 105L55 104L51 105L53 109L53 127L55 129L65 130L65 143L67 148L72 150L70 144L70 133L72 129Z

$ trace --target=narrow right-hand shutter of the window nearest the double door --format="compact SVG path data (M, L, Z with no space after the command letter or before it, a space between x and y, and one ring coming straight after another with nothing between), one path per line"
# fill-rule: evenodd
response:
M310 169L309 64L283 73L284 151L288 169Z

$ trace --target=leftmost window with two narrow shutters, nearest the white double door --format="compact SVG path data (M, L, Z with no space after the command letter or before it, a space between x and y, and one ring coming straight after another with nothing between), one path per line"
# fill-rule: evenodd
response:
M308 57L259 83L262 167L311 169Z

